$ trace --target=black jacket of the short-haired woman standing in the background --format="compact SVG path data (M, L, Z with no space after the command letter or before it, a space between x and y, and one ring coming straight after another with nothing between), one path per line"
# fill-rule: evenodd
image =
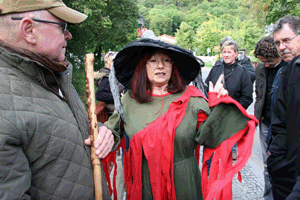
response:
M205 83L209 81L215 85L219 76L225 72L225 89L228 90L229 96L238 101L245 109L253 101L253 84L247 70L239 63L226 66L224 62L216 64L211 70Z

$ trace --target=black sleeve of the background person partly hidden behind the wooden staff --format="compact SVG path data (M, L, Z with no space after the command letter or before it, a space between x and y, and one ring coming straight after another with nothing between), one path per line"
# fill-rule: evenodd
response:
M111 104L114 103L114 98L110 91L109 80L107 77L104 77L99 83L96 99L98 101L103 101L104 103Z

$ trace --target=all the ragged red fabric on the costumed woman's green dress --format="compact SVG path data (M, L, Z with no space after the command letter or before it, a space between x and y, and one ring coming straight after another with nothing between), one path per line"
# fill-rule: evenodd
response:
M130 146L129 146L129 152L128 152L128 160L127 164L125 164L125 184L127 185L126 191L127 191L127 199L132 200L132 199L142 199L142 159L143 159L143 153L147 159L148 166L149 166L149 172L150 172L150 182L151 182L151 188L152 188L152 194L153 194L153 199L155 200L175 200L176 199L176 193L175 193L175 183L174 183L174 138L175 138L175 130L178 127L178 125L181 123L187 105L189 98L192 96L198 96L198 97L203 97L205 96L195 87L190 86L185 93L179 97L177 100L171 103L169 110L162 115L160 118L152 122L149 126L144 128L143 130L137 132L131 139L130 141ZM226 103L236 103L235 100L233 100L230 97L225 97L221 99L216 98L217 94L215 93L210 93L209 99L210 99L210 107L213 107L220 102L226 102ZM237 107L246 115L246 111L240 104L237 103ZM244 111L243 111L243 110ZM248 126L240 131L238 134L235 134L228 140L224 141L221 145L219 145L216 149L208 149L205 148L205 153L204 153L204 164L203 164L203 170L202 170L202 184L203 184L203 196L204 198L208 197L210 199L213 199L217 194L219 194L221 191L225 194L231 194L231 187L229 188L228 183L231 182L234 174L238 172L240 169L242 169L248 158L250 157L251 154L251 147L248 147L249 144L253 143L253 136L255 132L255 123L253 122L253 119L251 118L252 116L249 116L251 119L248 122ZM203 112L199 112L198 114L198 124L197 127L206 119L206 115ZM253 117L254 118L254 117ZM254 118L255 119L255 118ZM255 119L256 120L256 119ZM257 120L256 120L257 121ZM256 122L255 121L255 122ZM246 131L249 129L249 133L244 135ZM254 127L254 130L253 130ZM161 130L163 130L163 134L158 134L161 133ZM249 136L250 135L250 136ZM232 139L235 138L235 139ZM219 156L219 151L216 151L218 149L224 148L225 145L230 143L229 146L233 146L238 139L244 140L244 142L238 142L238 148L239 148L239 155L241 156L241 161L242 164L239 164L241 161L237 161L237 164L234 165L233 168L227 168L229 167L229 163L231 160L232 163L232 158L231 159L226 159L227 162L224 163L225 165L221 165L220 169L217 169L217 164L216 160L218 158L222 158ZM247 139L249 138L249 139ZM251 140L251 141L249 141ZM230 142L231 141L231 142ZM232 143L232 145L231 145ZM124 144L124 143L122 143ZM244 148L244 146L247 145L247 148ZM227 154L231 153L231 148L226 150ZM199 151L199 148L197 148ZM247 152L244 152L244 150L247 150ZM222 151L224 151L222 149ZM125 152L125 148L124 151ZM211 165L211 170L214 173L210 173L210 178L207 180L207 166L206 166L206 160L208 160L211 157L211 154L215 152L215 155L213 157L212 165ZM221 152L221 151L220 151ZM246 155L244 155L246 154ZM198 156L199 157L199 152ZM108 156L105 158L106 163L110 159L115 159L114 156ZM125 158L126 160L126 158ZM198 159L199 160L199 159ZM105 164L105 162L103 163ZM106 170L105 170L106 169ZM108 168L104 167L104 170L106 172L106 180L109 179L108 175ZM228 174L226 174L228 172ZM225 174L223 174L225 173ZM212 175L213 174L213 175ZM221 182L218 180L217 177L222 178L225 176L225 179L222 180ZM115 176L114 176L115 177ZM220 179L219 178L219 179ZM115 178L114 178L115 179ZM213 184L216 184L213 185ZM111 186L110 181L109 181L109 186ZM211 188L211 186L213 188ZM114 188L115 188L115 181L114 181ZM223 190L224 188L224 190ZM111 188L110 188L110 191ZM222 194L223 194L222 193ZM116 199L116 192L114 189L114 196ZM225 197L225 196L223 196ZM226 196L227 197L227 196ZM222 198L222 197L221 197ZM231 197L232 198L232 195ZM229 198L229 199L230 199ZM223 198L225 199L225 198ZM228 198L226 198L228 199Z

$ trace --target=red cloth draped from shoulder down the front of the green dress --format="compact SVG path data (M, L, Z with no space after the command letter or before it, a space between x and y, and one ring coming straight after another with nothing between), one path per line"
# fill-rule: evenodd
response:
M128 154L127 198L142 199L142 157L147 159L153 199L176 199L174 184L175 129L181 123L191 96L204 95L189 87L169 110L131 139Z

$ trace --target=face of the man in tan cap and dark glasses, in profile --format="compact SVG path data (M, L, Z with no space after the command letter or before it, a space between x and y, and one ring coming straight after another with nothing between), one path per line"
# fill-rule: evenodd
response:
M49 12L44 12L40 16L40 19L53 22L64 22ZM38 23L36 52L54 61L64 61L66 59L67 40L72 38L71 33L68 30L64 32L63 26L58 24L34 23Z

